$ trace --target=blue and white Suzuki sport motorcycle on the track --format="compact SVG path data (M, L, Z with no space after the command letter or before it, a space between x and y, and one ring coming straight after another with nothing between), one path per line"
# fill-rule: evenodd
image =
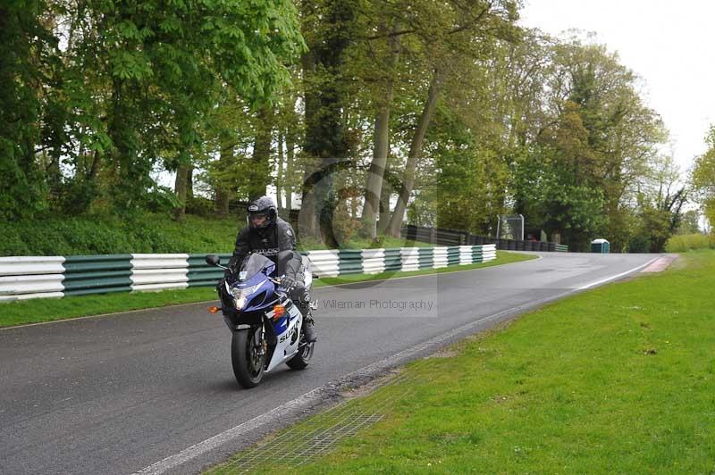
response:
M293 258L292 251L282 251L276 262ZM305 285L312 283L310 262L303 257ZM206 255L206 263L227 269L218 256ZM274 278L276 263L262 254L248 254L238 275L223 279L216 287L223 320L231 329L231 363L233 374L242 387L256 387L265 373L282 363L292 370L303 370L313 356L314 343L307 343L303 334L303 315L294 304L281 279Z

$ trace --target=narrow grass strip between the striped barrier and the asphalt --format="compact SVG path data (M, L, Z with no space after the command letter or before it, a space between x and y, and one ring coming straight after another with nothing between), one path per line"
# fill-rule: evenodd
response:
M436 272L466 271L510 262L531 259L526 254L497 251L497 259L482 264L468 264L450 268L412 272L388 272L383 274L355 274L339 278L324 278L315 281L315 287L357 282L363 280L408 277ZM40 298L0 304L0 327L10 327L24 323L65 320L103 313L126 312L175 304L190 304L214 300L214 287L192 287L161 292L117 293L96 296L67 296L63 298Z

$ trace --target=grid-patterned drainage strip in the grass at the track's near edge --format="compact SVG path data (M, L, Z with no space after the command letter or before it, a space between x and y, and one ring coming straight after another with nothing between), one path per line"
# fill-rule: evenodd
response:
M381 421L385 413L411 390L396 386L408 378L396 375L386 379L368 398L342 401L332 408L278 433L265 442L238 454L237 458L215 467L211 475L246 473L261 466L297 467L314 461L357 432Z

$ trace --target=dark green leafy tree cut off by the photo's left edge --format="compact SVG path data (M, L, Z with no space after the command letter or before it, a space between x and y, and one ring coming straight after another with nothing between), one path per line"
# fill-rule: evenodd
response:
M54 9L53 9L54 11ZM54 95L44 97L57 80L57 38L43 21L50 4L41 0L0 5L0 217L31 217L46 206L46 187L36 154L61 137L56 127ZM51 17L53 13L50 13ZM40 124L51 125L43 130ZM52 139L52 140L51 140ZM50 160L54 160L53 156Z

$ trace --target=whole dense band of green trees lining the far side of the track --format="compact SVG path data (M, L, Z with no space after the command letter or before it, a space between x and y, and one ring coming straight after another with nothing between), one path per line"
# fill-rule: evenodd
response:
M592 37L519 27L518 10L5 2L0 216L16 244L4 253L46 252L23 236L62 240L85 222L122 230L106 248L160 250L147 213L226 217L266 191L280 212L300 207L306 242L327 246L396 237L405 220L488 235L497 214L523 213L572 249L607 237L616 251L662 250L683 227L686 189L638 78ZM694 173L706 203L708 156ZM170 173L173 189L161 187Z

